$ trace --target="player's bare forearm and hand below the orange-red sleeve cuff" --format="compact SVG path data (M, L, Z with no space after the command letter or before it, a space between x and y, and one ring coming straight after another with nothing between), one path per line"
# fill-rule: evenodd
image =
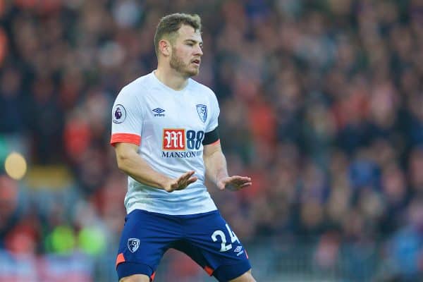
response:
M197 177L192 176L195 171L183 173L179 178L169 178L164 174L154 171L137 154L137 149L137 145L125 142L116 143L115 145L118 168L138 182L166 190L167 192L173 192L174 190L183 190L191 183L197 181Z

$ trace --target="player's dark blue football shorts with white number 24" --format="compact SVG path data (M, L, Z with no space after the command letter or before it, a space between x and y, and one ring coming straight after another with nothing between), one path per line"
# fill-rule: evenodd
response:
M135 209L125 217L116 258L119 280L145 274L153 281L169 248L184 252L218 281L251 269L247 252L218 211L172 216Z

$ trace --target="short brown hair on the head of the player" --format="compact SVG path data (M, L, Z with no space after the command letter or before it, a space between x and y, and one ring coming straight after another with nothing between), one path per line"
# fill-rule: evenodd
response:
M154 34L154 49L157 56L159 56L159 41L163 37L168 37L171 43L173 43L176 32L178 32L182 25L190 25L194 27L196 32L201 32L201 18L197 14L173 13L161 18Z

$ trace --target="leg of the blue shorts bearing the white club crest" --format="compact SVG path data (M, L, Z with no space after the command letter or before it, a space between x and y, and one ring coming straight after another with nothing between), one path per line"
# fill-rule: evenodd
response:
M139 209L128 214L116 258L119 279L134 274L154 278L161 257L180 239L180 231L180 223L171 216Z

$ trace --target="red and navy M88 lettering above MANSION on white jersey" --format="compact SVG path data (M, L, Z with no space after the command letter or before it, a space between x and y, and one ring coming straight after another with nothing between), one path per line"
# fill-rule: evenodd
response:
M164 128L163 149L168 151L184 151L200 149L204 131L185 130L184 128Z

